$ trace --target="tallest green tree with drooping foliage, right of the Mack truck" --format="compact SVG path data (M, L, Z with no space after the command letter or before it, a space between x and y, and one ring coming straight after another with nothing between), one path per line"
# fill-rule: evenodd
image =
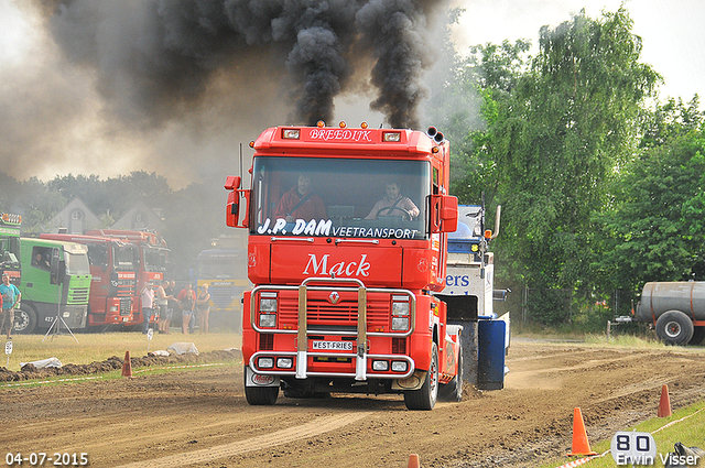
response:
M623 8L544 26L530 72L500 101L491 132L505 229L496 250L511 259L516 285L594 284L592 215L633 153L641 105L660 78L639 63L631 28ZM538 318L556 319L547 311Z

